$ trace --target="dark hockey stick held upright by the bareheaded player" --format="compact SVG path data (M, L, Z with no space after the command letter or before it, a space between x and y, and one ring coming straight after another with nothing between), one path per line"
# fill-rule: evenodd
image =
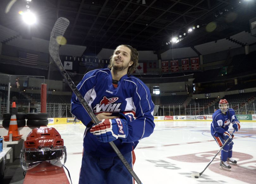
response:
M96 118L93 111L90 109L84 98L82 97L81 93L76 88L74 82L71 80L70 76L67 74L66 70L64 69L61 60L59 58L59 46L60 44L57 42L57 40L60 40L62 36L64 35L67 27L69 26L69 20L63 17L58 18L58 20L55 22L51 37L50 37L50 44L49 44L49 53L52 57L55 64L58 66L58 70L60 71L61 75L64 77L72 91L75 93L78 100L81 102L84 109L87 111L89 116L92 118L92 120L99 124L99 120ZM142 182L139 180L138 176L135 174L135 172L132 170L130 164L125 160L125 157L122 155L122 153L119 151L119 149L116 147L116 145L113 142L109 142L113 150L116 152L116 154L119 156L120 160L125 165L126 169L129 171L131 176L134 178L134 180L137 182L137 184L142 184Z

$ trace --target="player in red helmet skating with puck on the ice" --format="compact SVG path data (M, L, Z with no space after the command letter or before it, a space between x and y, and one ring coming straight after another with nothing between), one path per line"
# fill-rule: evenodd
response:
M238 131L240 129L240 121L236 119L234 109L229 108L229 103L226 99L221 99L219 102L219 108L212 115L211 123L211 135L219 145L225 143L229 139L229 142L221 150L221 162L220 169L231 170L229 164L237 164L237 161L232 159L232 148L233 148L233 137L231 136L229 130L229 125L232 124L234 130Z

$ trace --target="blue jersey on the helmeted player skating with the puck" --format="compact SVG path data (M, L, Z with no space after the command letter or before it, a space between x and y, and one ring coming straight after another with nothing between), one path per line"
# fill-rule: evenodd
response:
M223 114L220 109L216 110L212 114L211 134L220 137L225 131L229 130L230 123L234 121L238 121L234 109L229 108L226 114Z

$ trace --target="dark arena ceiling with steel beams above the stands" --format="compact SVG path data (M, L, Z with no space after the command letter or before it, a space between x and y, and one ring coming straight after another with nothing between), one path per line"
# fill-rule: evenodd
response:
M256 17L255 0L32 0L29 9L38 21L29 29L18 14L26 11L27 1L13 0L5 13L9 2L0 1L0 25L24 37L49 40L57 18L65 17L70 20L67 43L86 46L86 55L119 44L158 53L191 47L250 31L249 19ZM197 25L199 28L187 32ZM180 42L166 44L179 35Z

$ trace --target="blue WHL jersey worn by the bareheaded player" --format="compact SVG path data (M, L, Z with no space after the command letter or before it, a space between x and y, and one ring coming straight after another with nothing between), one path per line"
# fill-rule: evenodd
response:
M77 89L95 115L102 112L110 112L113 113L112 115L124 111L136 112L137 119L128 123L127 138L114 141L122 154L132 151L138 140L149 137L153 132L155 127L154 103L151 100L149 88L136 77L124 75L115 88L109 69L92 70L84 75L82 81L77 85ZM83 147L86 152L102 157L116 156L109 143L98 141L88 131L91 128L92 119L74 93L71 98L71 113L87 126L83 139Z

